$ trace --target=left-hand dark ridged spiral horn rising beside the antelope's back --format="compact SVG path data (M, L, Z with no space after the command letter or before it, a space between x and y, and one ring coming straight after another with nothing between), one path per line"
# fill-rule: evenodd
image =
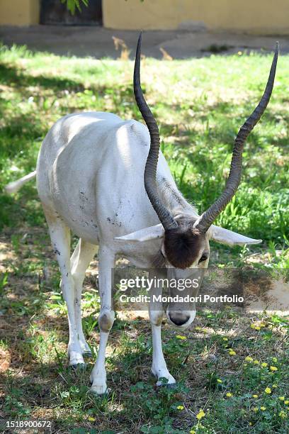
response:
M142 46L142 33L140 33L139 39L137 41L137 52L135 55L135 70L133 74L133 90L135 92L135 101L137 106L142 113L147 128L149 129L150 135L150 148L149 155L147 156L147 163L145 165L145 190L147 191L147 196L156 211L159 220L164 226L165 230L170 230L178 227L174 217L171 215L169 210L162 204L157 194L157 162L159 160L159 128L157 122L149 110L149 106L145 101L145 97L142 94L142 87L140 86L140 50Z

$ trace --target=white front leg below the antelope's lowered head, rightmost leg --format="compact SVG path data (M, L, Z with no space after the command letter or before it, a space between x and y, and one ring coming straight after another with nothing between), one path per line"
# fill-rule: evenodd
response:
M161 279L163 276L159 270L149 272L149 279ZM162 286L154 286L150 292L149 299L149 320L152 325L152 374L157 377L157 386L162 386L162 378L168 380L167 384L175 384L176 380L169 373L164 360L164 354L162 352L162 318L164 317L164 310L162 308L162 302L154 301L154 296L162 295Z

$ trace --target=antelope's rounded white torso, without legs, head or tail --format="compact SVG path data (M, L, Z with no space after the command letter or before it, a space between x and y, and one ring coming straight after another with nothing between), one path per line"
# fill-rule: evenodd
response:
M65 116L38 156L42 204L86 239L96 226L113 236L154 225L143 178L148 152L149 133L140 122L101 112ZM162 154L159 171L170 176Z

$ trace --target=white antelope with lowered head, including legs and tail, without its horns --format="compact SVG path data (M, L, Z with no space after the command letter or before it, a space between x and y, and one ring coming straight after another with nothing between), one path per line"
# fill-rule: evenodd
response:
M274 60L277 61L276 55ZM137 61L140 62L140 52L137 53ZM135 93L140 106L140 98ZM267 99L270 95L271 92ZM193 268L208 267L210 238L228 245L261 241L213 226L212 220L209 226L208 222L205 224L201 220L205 213L198 216L196 209L183 199L162 152L157 149L159 161L154 161L156 173L152 188L171 218L172 226L176 223L174 228L165 227L163 216L152 199L152 191L149 192L148 185L144 184L143 174L149 161L149 150L152 152L154 132L146 113L142 114L149 130L140 122L123 121L112 113L89 112L65 116L47 133L38 156L38 194L60 266L62 291L67 303L70 365L84 364L84 356L90 354L81 326L81 291L86 269L98 248L100 345L91 373L91 390L96 394L107 391L105 350L114 320L111 269L114 268L116 255L128 258L137 267L150 269L155 268L156 255L162 255L164 267L169 269L171 276L181 279L189 277ZM14 191L24 181L14 182ZM189 266L178 262L182 258L169 259L169 237L180 228L185 228L181 235L177 233L181 248L184 252L190 249L193 252ZM71 230L79 237L72 257ZM187 236L188 232L193 235ZM180 265L174 267L175 263ZM157 275L158 270L154 271ZM162 288L154 287L152 291L161 294ZM163 377L168 384L175 383L162 353L163 314L161 305L157 309L149 306L153 337L152 372L157 376L159 385ZM170 323L184 328L191 324L196 312L194 309L178 311L174 304L169 304L166 314Z

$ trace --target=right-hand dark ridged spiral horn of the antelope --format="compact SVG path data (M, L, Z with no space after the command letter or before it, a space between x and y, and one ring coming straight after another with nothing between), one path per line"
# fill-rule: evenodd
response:
M227 179L225 190L215 201L215 203L212 204L210 208L208 208L208 210L205 211L194 224L194 227L198 228L198 230L200 230L202 233L205 233L208 228L210 228L212 222L215 220L215 218L217 218L217 216L219 216L221 211L225 208L237 191L242 176L242 153L244 149L244 143L249 133L251 133L251 130L253 130L254 126L256 126L256 123L258 123L259 119L263 115L266 106L270 101L276 73L278 52L278 43L276 43L276 50L273 57L268 82L266 84L266 89L263 93L261 101L259 102L258 106L256 106L256 109L253 111L251 116L249 116L249 118L246 120L242 128L240 128L237 138L235 139L231 167L229 169L229 177Z

